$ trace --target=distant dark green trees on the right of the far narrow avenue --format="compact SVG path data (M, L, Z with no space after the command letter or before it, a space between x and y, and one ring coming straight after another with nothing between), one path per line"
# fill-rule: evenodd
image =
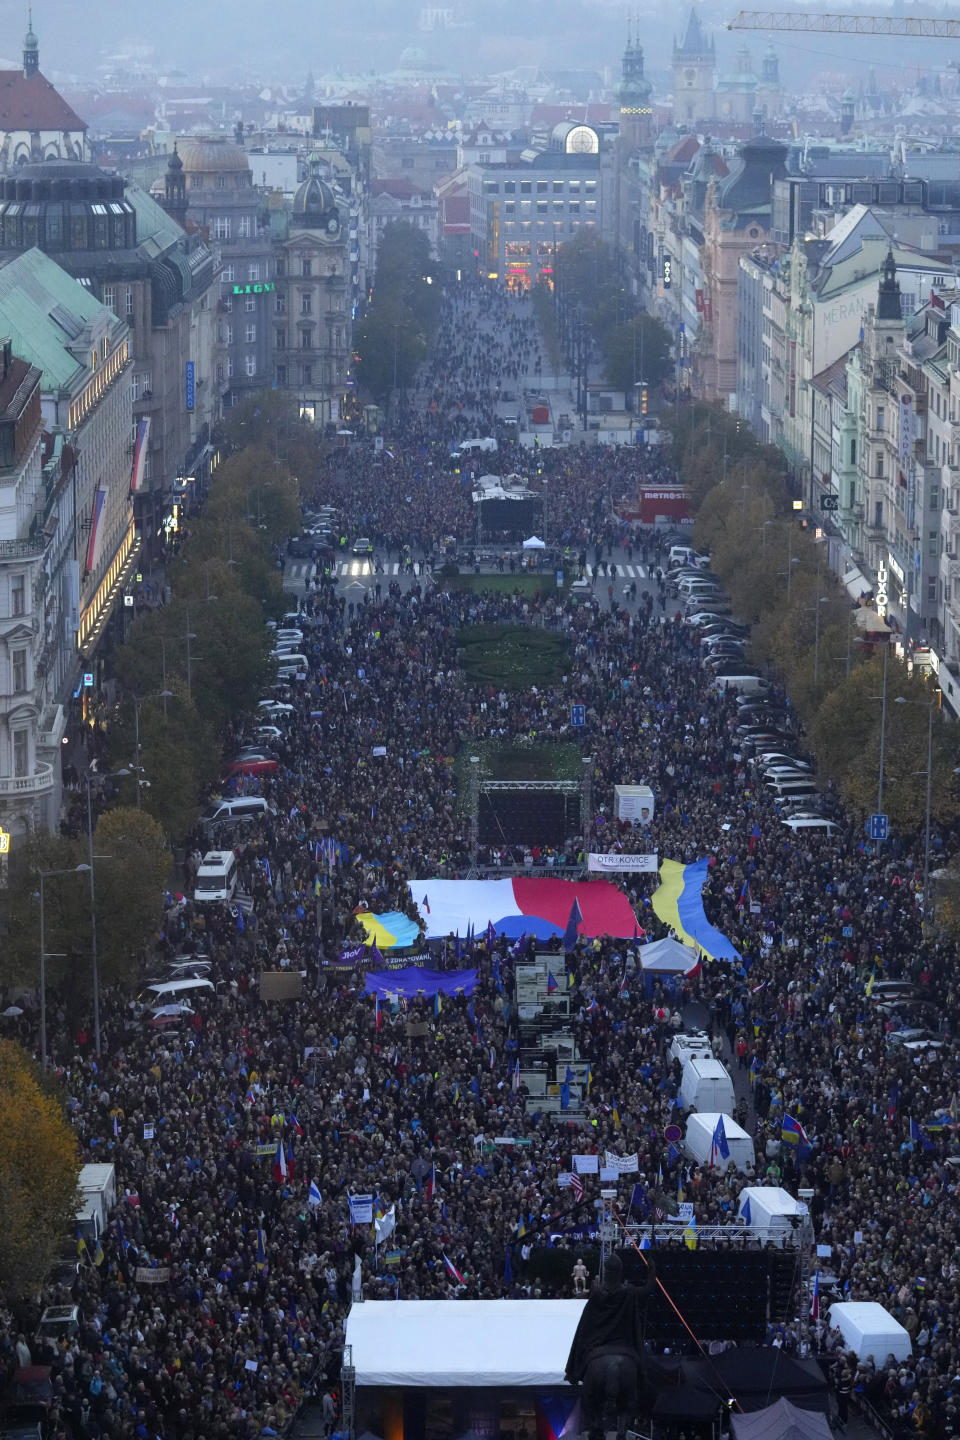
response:
M669 331L638 307L628 289L616 251L596 229L584 229L557 251L554 274L561 334L583 323L596 344L603 372L616 390L656 389L672 373Z

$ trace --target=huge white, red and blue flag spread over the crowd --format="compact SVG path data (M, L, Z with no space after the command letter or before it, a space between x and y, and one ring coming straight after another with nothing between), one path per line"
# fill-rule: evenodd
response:
M548 940L566 932L574 900L583 917L579 935L639 935L630 901L609 880L412 880L410 893L427 939L465 937L471 926L479 939L492 924L511 939Z

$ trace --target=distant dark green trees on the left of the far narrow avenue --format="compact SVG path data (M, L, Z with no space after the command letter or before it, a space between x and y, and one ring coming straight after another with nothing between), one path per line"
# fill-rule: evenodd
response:
M354 327L360 382L379 405L406 390L426 359L440 312L430 242L406 220L384 226L377 246L373 300Z

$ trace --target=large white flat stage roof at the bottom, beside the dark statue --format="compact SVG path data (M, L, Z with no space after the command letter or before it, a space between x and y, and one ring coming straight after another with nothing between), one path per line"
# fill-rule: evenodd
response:
M357 1385L563 1385L586 1300L364 1300L347 1316Z

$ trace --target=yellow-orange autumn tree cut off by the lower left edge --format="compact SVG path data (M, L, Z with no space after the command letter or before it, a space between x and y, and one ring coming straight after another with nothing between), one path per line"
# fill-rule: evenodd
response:
M35 1295L79 1204L79 1155L49 1077L27 1053L0 1040L0 1295L16 1305Z

